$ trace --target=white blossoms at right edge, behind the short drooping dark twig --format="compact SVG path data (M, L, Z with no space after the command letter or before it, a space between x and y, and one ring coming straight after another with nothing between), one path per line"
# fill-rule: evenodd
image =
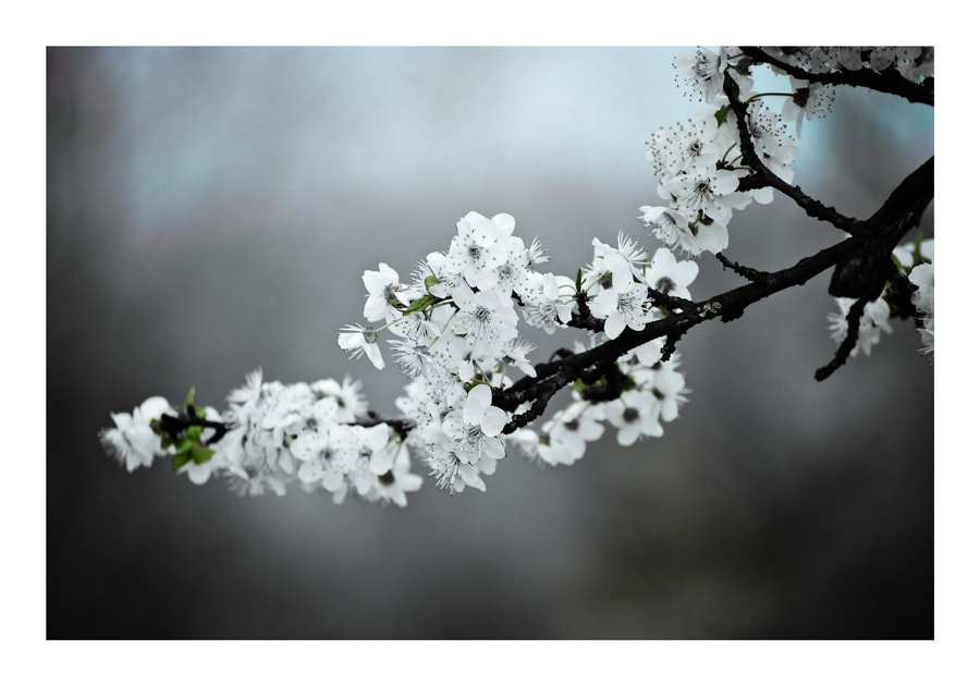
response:
M895 264L906 274L908 280L918 286L912 293L911 303L922 315L922 327L919 332L922 335L923 348L921 352L930 356L930 360L934 351L934 329L933 322L935 318L935 307L933 303L933 280L932 280L932 261L935 243L932 238L921 242L906 243L899 245L892 253ZM840 311L830 313L826 316L830 322L831 338L834 343L841 342L847 336L847 313L857 302L849 297L835 298ZM878 299L865 305L865 311L861 315L860 324L858 327L858 340L850 356L854 357L858 351L863 351L865 355L871 354L871 346L877 345L881 341L881 332L892 332L889 324L889 318L892 316L892 307L885 299L883 293Z

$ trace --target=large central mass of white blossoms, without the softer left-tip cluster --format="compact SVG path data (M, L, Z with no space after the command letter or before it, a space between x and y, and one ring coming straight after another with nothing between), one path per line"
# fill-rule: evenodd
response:
M621 427L621 441L629 437L628 443L640 434L660 436L658 420L676 417L684 391L676 362L662 365L659 348L653 354L649 347L642 363L632 363L632 355L621 360L629 379L621 399L590 403L576 391L572 406L562 413L563 418L569 412L575 416L575 431L569 433L568 422L555 419L544 425L541 436L532 429L504 434L506 424L527 407L506 413L493 406L493 389L509 389L515 371L536 377L527 358L534 345L518 338L522 320L553 333L576 315L591 315L603 322L592 344L599 338L616 339L627 327L640 331L669 314L654 305L650 290L687 299L687 287L698 273L696 264L678 262L665 248L649 259L623 232L615 247L593 240L592 262L576 280L542 273L535 269L547 261L541 246L537 241L526 246L514 226L510 215L488 219L469 212L456 224L449 250L429 254L411 283L401 283L384 264L378 271L366 271L364 316L384 323L347 326L338 338L342 348L363 351L380 369L381 333L394 335L391 348L412 379L396 401L414 426L406 443L425 456L439 487L453 492L466 486L485 490L482 476L495 471L505 442L556 465L583 456L585 441L602 433L598 421ZM587 303L588 311L578 311L579 301Z

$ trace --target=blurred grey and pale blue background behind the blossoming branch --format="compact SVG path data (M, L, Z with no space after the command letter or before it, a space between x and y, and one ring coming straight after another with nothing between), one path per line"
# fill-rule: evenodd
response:
M932 369L895 321L816 382L829 273L687 334L662 439L509 456L487 493L243 500L99 445L110 412L192 384L221 408L258 366L351 373L395 414L396 367L336 346L364 270L407 277L469 210L512 213L559 273L642 238L644 143L698 109L684 51L49 49L48 637L932 638ZM865 218L932 146L929 108L837 89L794 168ZM842 237L782 198L730 234L761 269ZM740 284L700 266L696 299Z

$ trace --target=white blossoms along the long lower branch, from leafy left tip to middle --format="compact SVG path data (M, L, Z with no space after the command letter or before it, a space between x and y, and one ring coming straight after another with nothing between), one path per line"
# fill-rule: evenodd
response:
M613 382L604 376L591 384L579 380L572 403L540 432L504 433L530 403L505 412L493 405L494 390L511 388L515 375L537 376L528 359L535 346L518 336L518 326L553 333L575 317L600 322L591 324L593 347L669 316L656 303L689 301L698 274L695 262L678 261L666 248L650 258L622 231L615 246L593 240L592 261L575 280L542 273L536 270L548 260L541 245L536 240L527 246L514 226L510 215L469 212L449 249L429 254L409 283L385 264L365 271L364 317L376 326L346 326L338 343L381 369L381 342L390 334L391 351L411 379L395 403L401 419L372 419L359 383L350 379L285 385L264 382L258 370L231 392L223 414L194 407L193 397L179 409L155 397L132 417L113 415L118 428L105 430L103 442L130 469L150 466L155 456L173 457L195 483L218 473L242 494L283 494L298 481L332 493L335 502L353 491L405 505L405 493L421 483L409 471L411 454L427 463L440 488L456 492L466 486L486 490L482 477L495 471L507 444L559 465L579 460L586 441L603 433L603 421L623 445L662 436L661 422L675 419L685 400L678 356L661 360L662 340L621 357L614 393L598 392ZM216 436L219 426L225 432Z

